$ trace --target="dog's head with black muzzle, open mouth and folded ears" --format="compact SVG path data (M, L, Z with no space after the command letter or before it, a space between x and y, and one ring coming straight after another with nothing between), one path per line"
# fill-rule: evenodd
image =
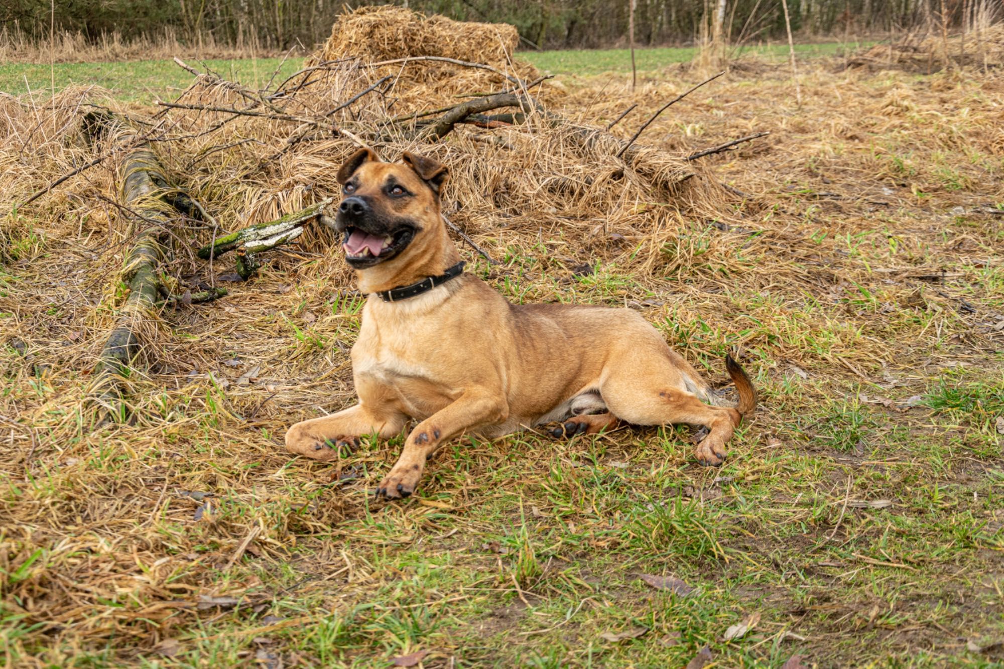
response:
M405 153L384 163L369 149L348 157L338 170L342 200L335 230L344 235L345 260L366 269L420 250L442 229L439 194L447 169L424 156Z

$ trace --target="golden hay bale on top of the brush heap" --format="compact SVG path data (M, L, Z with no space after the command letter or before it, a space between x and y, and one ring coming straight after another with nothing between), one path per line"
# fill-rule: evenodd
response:
M431 55L501 64L512 57L517 44L519 33L506 23L453 21L385 5L339 16L319 56L375 61Z

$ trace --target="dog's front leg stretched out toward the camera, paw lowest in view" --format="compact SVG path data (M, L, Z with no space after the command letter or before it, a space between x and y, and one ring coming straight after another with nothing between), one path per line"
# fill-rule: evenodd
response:
M412 430L397 464L376 487L376 497L408 497L418 487L426 459L448 439L474 427L501 423L508 415L508 406L498 393L464 393Z

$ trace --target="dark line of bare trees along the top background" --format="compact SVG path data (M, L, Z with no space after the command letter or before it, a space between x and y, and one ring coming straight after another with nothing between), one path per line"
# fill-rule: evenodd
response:
M593 48L625 43L632 0L399 0L413 9L465 21L499 21L519 29L528 48ZM636 43L685 44L702 34L721 0L635 0ZM787 0L791 28L803 37L858 36L917 26L957 28L999 0ZM0 25L45 38L50 27L89 40L114 32L124 39L173 31L186 43L311 48L357 0L5 0ZM781 0L726 0L732 42L780 39Z

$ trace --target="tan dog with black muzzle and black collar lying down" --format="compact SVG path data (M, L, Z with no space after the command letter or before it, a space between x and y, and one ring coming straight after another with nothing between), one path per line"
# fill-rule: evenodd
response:
M514 305L462 274L440 214L446 178L446 167L429 158L406 153L401 163L383 163L368 149L338 171L344 199L334 227L359 290L369 293L351 353L359 403L293 425L286 448L334 460L343 443L392 437L416 419L376 489L389 498L412 494L426 459L456 436L499 437L554 421L563 423L555 436L618 421L703 425L710 432L697 457L721 464L725 442L756 406L739 365L725 360L738 406L715 406L719 398L697 371L635 311Z

